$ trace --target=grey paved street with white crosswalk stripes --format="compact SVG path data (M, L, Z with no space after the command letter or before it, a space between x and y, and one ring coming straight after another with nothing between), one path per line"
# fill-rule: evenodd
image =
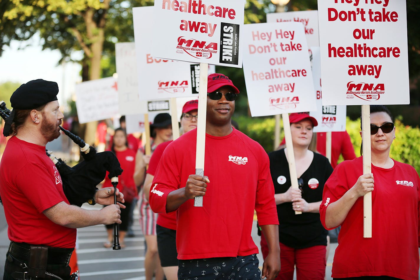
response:
M101 206L84 204L87 209L100 209ZM126 238L126 248L113 251L104 248L106 232L103 225L78 229L77 257L80 270L80 280L144 280L144 237L139 225L138 211L134 217L134 231L136 236ZM260 246L260 237L257 235L256 226L252 227L252 238ZM0 206L0 275L3 275L4 262L10 241L7 237L7 224L4 218L3 206ZM331 278L333 255L337 243L331 244L330 256L327 261L327 277ZM260 266L262 256L258 254ZM1 277L1 276L0 276ZM296 273L295 277L296 279Z

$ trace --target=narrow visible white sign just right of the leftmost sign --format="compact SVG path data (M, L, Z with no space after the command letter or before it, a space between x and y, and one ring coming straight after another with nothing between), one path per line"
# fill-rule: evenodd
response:
M134 42L115 44L115 65L118 74L118 111L121 115L137 114L144 106L139 100Z

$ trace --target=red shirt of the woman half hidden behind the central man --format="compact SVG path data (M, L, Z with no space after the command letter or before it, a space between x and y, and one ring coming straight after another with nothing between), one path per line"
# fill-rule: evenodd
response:
M159 164L160 158L163 155L163 151L165 151L165 148L168 147L168 145L171 143L172 140L166 141L156 147L152 157L150 158L149 167L147 168L146 173L155 176L157 164ZM156 224L160 225L161 227L176 230L176 211L172 211L170 213L159 213L159 215L157 215Z

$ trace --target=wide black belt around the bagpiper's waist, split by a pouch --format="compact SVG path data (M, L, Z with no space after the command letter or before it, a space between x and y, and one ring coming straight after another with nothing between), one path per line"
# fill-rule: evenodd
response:
M9 253L21 262L29 261L30 244L11 242ZM70 261L71 248L48 247L47 264L66 264Z

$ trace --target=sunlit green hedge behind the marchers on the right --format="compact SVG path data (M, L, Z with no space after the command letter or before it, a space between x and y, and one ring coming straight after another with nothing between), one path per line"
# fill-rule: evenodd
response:
M266 152L273 151L274 117L239 116L234 120L239 124L239 130L262 145ZM413 166L420 173L420 129L402 123L401 118L395 121L396 139L391 146L390 156ZM347 118L347 132L352 140L354 151L360 156L360 119L355 121ZM280 139L283 139L283 130Z

